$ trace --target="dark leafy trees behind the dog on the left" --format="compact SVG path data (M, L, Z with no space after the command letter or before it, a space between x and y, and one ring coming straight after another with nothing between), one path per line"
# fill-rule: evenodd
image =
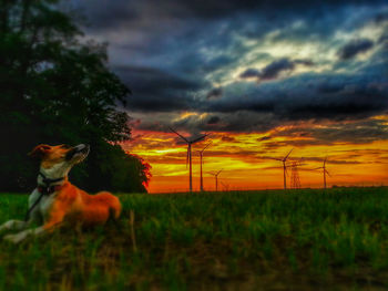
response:
M90 190L146 191L151 166L118 143L130 139L130 90L106 67L106 48L85 42L57 0L0 0L0 190L28 191L38 144L85 143L70 173ZM82 40L82 41L81 41Z

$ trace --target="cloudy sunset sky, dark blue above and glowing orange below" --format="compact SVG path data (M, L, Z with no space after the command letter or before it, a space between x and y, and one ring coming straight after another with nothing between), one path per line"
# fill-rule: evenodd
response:
M124 149L152 165L151 193L194 189L198 149L222 189L283 187L292 148L302 187L388 185L388 2L72 0L88 38L133 92ZM289 183L292 170L289 168ZM288 185L289 186L289 185Z

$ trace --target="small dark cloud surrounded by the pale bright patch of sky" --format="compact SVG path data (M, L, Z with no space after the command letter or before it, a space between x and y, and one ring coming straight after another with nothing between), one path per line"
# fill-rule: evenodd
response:
M275 60L274 62L269 63L262 70L256 69L247 69L242 74L239 74L241 79L252 79L255 77L257 81L266 81L266 80L274 80L279 77L282 73L292 72L295 70L295 66L297 64L312 66L314 65L314 62L310 60L288 60L287 58L283 58L279 60Z

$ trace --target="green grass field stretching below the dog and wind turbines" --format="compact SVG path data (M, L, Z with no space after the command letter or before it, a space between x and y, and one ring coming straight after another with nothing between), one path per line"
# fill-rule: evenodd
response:
M0 240L0 290L388 289L388 188L120 198L120 228Z

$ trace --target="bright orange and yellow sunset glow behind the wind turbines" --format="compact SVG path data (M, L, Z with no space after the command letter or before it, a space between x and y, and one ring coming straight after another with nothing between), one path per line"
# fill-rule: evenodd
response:
M285 129L285 128L282 128ZM153 178L150 193L187 191L186 146L172 133L135 132L137 139L123 147L145 158L152 165ZM208 172L223 168L219 189L267 189L283 187L282 163L270 159L283 157L293 148L293 142L308 142L308 138L277 137L272 142L257 142L264 134L222 134L211 136L212 145L204 154L204 187L214 190L214 177ZM193 187L200 188L200 159L196 150L207 142L193 148ZM279 147L272 147L278 143ZM308 145L295 147L292 159L303 158L306 164L299 168L302 187L323 187L320 167L328 156L328 186L380 186L388 180L388 142L370 144L335 143L333 145ZM289 169L290 175L290 169ZM289 187L288 176L288 187Z

